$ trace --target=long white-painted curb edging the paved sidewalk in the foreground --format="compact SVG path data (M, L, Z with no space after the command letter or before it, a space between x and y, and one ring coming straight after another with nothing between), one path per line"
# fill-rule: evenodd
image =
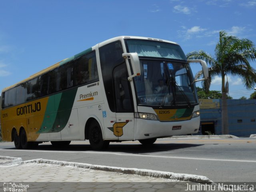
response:
M193 175L193 174L180 174L180 173L164 172L164 171L156 171L156 170L148 170L148 169L122 168L122 167L93 165L93 164L86 164L86 163L56 161L56 160L48 160L48 159L34 159L34 160L18 162L18 164L24 164L24 163L38 163L38 164L46 163L46 164L54 164L54 165L61 165L61 166L74 166L78 168L85 168L85 169L92 169L92 170L118 172L123 174L134 174L139 176L166 178L166 179L188 181L188 182L197 182L197 183L204 182L208 184L213 183L212 180L210 180L205 176ZM17 164L17 162L11 163L8 165L14 165L14 164Z

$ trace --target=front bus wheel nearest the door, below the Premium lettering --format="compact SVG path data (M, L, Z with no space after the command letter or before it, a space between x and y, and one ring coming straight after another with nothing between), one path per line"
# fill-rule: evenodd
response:
M89 127L89 142L93 150L103 150L108 148L109 141L104 141L98 122L93 121Z

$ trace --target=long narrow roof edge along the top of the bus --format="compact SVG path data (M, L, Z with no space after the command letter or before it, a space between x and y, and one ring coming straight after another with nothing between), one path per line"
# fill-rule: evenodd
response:
M110 42L114 42L114 41L121 40L121 39L142 39L142 40L153 40L153 41L161 41L161 42L177 44L176 42L172 42L172 41L168 41L168 40L162 40L162 39L157 39L157 38L148 38L148 37L140 37L140 36L118 36L118 37L114 37L114 38L108 39L108 40L106 40L104 42L101 42L101 43L99 43L97 45L99 47L101 47L101 46L104 46L104 45L106 45L106 44L108 44ZM74 56L72 56L70 58L66 58L64 60L61 60L60 62L57 62L56 64L53 64L52 66L49 66L48 68L45 68L45 69L43 69L43 70L41 70L41 71L31 75L30 77L28 77L28 78L26 78L26 79L24 79L24 80L22 80L22 81L20 81L20 82L18 82L16 84L12 85L12 86L6 87L6 88L4 88L2 90L2 92L5 92L6 90L9 90L11 88L14 88L14 87L16 87L16 86L18 86L18 85L20 85L20 84L22 84L24 82L27 82L28 80L36 78L36 77L38 77L38 76L40 76L40 75L42 75L42 74L44 74L44 73L46 73L46 72L48 72L50 70L53 70L53 69L57 68L58 66L61 66L61 65L65 64L65 63L67 63L69 61L72 61L72 60L74 60L74 59L76 59L76 58L78 58L78 57L80 57L80 56L82 56L82 55L84 55L84 54L86 54L88 52L91 52L93 47L94 46L92 46L91 48L88 48L88 49L86 49L86 50L84 50L84 51L82 51L82 52L80 52L80 53L78 53L78 54L76 54L76 55L74 55Z

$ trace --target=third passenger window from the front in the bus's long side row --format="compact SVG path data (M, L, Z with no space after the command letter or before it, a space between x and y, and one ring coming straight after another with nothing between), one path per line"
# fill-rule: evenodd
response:
M39 90L40 97L54 93L54 71L49 71L40 76Z

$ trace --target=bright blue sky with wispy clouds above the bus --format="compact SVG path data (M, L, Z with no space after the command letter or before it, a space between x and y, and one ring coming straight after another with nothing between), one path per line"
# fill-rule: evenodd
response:
M214 55L220 30L255 44L255 18L256 0L0 0L0 90L115 36L171 40L185 54ZM233 98L254 92L228 81Z

